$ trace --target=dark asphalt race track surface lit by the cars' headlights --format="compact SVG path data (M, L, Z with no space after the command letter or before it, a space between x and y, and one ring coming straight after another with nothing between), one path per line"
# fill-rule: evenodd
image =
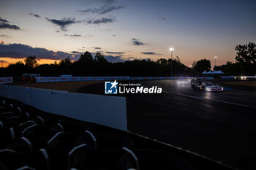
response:
M192 90L176 80L140 82L162 88L162 94L127 97L129 131L173 144L236 169L256 167L256 91ZM103 83L78 90L104 93Z

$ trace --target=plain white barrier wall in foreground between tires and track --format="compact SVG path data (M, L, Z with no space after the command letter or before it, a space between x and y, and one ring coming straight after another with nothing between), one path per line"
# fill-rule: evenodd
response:
M0 96L57 115L127 131L126 98L0 85Z

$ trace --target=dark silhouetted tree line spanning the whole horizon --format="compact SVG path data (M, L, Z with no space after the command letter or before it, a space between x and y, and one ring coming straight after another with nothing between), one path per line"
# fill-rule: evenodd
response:
M255 43L237 45L235 50L236 62L227 61L225 65L215 66L214 70L222 70L225 75L254 75L256 74ZM171 62L173 62L173 76L199 76L203 71L211 70L211 61L202 59L194 61L192 67L181 63L178 56L173 59L160 58L157 61L150 59L110 63L102 53L93 57L86 51L80 55L78 61L69 57L61 59L59 63L38 64L36 56L27 57L24 62L12 63L1 69L1 76L19 77L23 73L39 73L45 77L58 77L61 74L72 76L131 76L131 77L165 77L170 76Z

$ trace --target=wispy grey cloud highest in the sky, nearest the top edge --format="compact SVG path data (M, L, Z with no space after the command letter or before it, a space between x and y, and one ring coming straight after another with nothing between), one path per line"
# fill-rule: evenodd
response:
M94 8L94 9L85 9L85 10L80 10L79 12L83 12L83 13L97 13L97 14L105 14L108 12L112 12L116 9L122 9L124 8L124 6L116 6L116 5L108 5L105 4L102 7L99 8Z

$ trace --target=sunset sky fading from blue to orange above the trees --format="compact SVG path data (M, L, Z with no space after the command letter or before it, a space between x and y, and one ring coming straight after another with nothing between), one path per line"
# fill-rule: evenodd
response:
M101 52L108 61L203 58L235 61L236 45L256 40L256 1L1 0L0 61L36 55L53 63Z

